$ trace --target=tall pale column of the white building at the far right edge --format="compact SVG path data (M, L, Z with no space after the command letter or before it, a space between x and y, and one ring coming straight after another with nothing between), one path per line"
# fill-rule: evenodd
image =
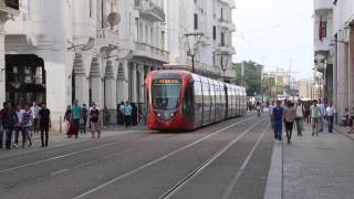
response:
M337 111L342 116L348 107L348 45L339 42L337 48Z

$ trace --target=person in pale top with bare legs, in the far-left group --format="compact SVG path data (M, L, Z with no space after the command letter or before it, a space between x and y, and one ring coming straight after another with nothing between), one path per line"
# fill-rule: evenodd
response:
M29 147L32 146L32 138L31 138L31 130L33 127L33 113L30 108L30 105L24 105L24 113L22 116L22 148L24 148L24 145L27 142L29 142Z

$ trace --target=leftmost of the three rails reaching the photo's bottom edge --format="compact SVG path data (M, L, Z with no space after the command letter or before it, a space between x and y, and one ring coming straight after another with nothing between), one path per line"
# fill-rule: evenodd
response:
M156 164L158 164L158 163L160 163L163 160L166 160L166 159L168 159L168 158L170 158L170 157L173 157L173 156L175 156L175 155L177 155L177 154L179 154L179 153L181 153L181 151L184 151L186 149L189 149L189 148L196 146L197 144L199 144L199 143L204 142L204 140L207 140L207 139L209 139L209 138L211 138L211 137L214 137L216 135L219 135L220 133L222 133L222 132L225 132L225 130L227 130L229 128L232 128L232 127L235 127L237 125L240 125L242 123L249 122L249 121L251 121L253 118L254 118L254 116L251 116L251 117L249 117L247 119L243 119L243 121L240 121L238 123L231 124L231 125L229 125L227 127L223 127L223 128L221 128L221 129L219 129L219 130L217 130L217 132L215 132L212 134L204 136L204 137L199 138L198 140L194 142L194 143L185 145L185 146L183 146L183 147L180 147L178 149L175 149L175 150L173 150L173 151L170 151L170 153L168 153L168 154L166 154L166 155L164 155L164 156L162 156L162 157L159 157L157 159L150 160L145 165L142 165L142 166L139 166L139 167L137 167L137 168L135 168L133 170L124 172L124 174L122 174L122 175L119 175L119 176L117 176L115 178L112 178L111 180L107 180L107 181L105 181L105 182L103 182L103 184L101 184L101 185L98 185L96 187L93 187L92 189L90 189L90 190L87 190L85 192L82 192L81 195L77 195L77 196L73 197L73 199L85 198L85 197L87 197L87 196L90 196L90 195L92 195L92 193L94 193L94 192L96 192L96 191L98 191L98 190L101 190L101 189L114 184L114 182L117 182L117 181L119 181L122 179L125 179L125 178L127 178L129 176L133 176L133 175L135 175L135 174L137 174L137 172L139 172L139 171L142 171L142 170L144 170L144 169L146 169L148 167L150 167L150 166L154 166L154 165L156 165ZM260 124L260 123L261 122L258 122L257 125ZM257 125L254 125L254 126L257 126Z

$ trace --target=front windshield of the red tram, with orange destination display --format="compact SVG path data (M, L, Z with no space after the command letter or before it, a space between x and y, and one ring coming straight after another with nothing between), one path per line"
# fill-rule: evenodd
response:
M181 84L179 80L155 80L153 103L156 109L176 109L179 103Z

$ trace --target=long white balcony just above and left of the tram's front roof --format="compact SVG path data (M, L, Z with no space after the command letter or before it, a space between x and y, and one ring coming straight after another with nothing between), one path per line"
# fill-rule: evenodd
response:
M135 42L134 56L140 56L159 62L169 62L169 52L143 42Z

